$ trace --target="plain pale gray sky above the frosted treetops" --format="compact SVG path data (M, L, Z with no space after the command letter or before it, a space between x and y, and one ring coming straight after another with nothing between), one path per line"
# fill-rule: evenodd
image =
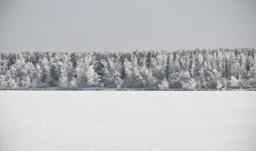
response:
M0 52L256 48L256 0L0 0Z

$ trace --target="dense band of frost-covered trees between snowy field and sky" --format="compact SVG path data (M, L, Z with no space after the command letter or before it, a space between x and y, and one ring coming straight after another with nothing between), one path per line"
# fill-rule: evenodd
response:
M254 48L0 52L0 89L256 89Z

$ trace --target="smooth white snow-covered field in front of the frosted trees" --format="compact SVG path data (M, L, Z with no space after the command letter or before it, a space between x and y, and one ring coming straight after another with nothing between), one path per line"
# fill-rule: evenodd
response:
M255 91L0 91L1 151L256 151Z

